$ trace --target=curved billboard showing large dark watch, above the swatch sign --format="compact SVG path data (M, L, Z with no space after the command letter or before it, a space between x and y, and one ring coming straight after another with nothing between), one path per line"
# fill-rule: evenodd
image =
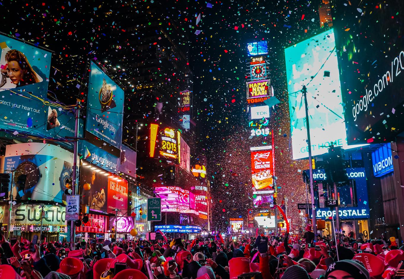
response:
M56 145L18 143L6 146L4 170L15 171L13 196L18 200L62 202L71 179L73 153ZM25 187L18 178L26 175Z

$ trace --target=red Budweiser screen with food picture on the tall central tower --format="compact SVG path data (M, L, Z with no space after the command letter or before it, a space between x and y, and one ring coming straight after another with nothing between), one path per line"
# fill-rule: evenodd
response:
M272 149L251 151L252 186L265 189L274 185L274 153Z

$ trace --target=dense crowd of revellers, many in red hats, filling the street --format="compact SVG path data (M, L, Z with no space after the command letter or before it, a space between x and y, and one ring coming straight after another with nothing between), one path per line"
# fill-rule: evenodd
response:
M240 239L96 239L36 244L1 235L6 279L393 279L404 271L404 246L389 239L337 241L305 235Z

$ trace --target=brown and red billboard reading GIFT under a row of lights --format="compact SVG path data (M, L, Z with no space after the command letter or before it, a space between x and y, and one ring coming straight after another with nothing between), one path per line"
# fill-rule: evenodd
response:
M84 189L89 184L90 189ZM88 185L86 185L88 186ZM80 166L81 204L100 212L126 211L128 208L128 181L84 160Z

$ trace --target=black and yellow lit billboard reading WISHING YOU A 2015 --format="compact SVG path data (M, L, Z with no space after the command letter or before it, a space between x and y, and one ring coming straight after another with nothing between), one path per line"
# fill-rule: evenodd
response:
M181 162L180 157L181 134L171 128L150 125L150 157L166 158Z

